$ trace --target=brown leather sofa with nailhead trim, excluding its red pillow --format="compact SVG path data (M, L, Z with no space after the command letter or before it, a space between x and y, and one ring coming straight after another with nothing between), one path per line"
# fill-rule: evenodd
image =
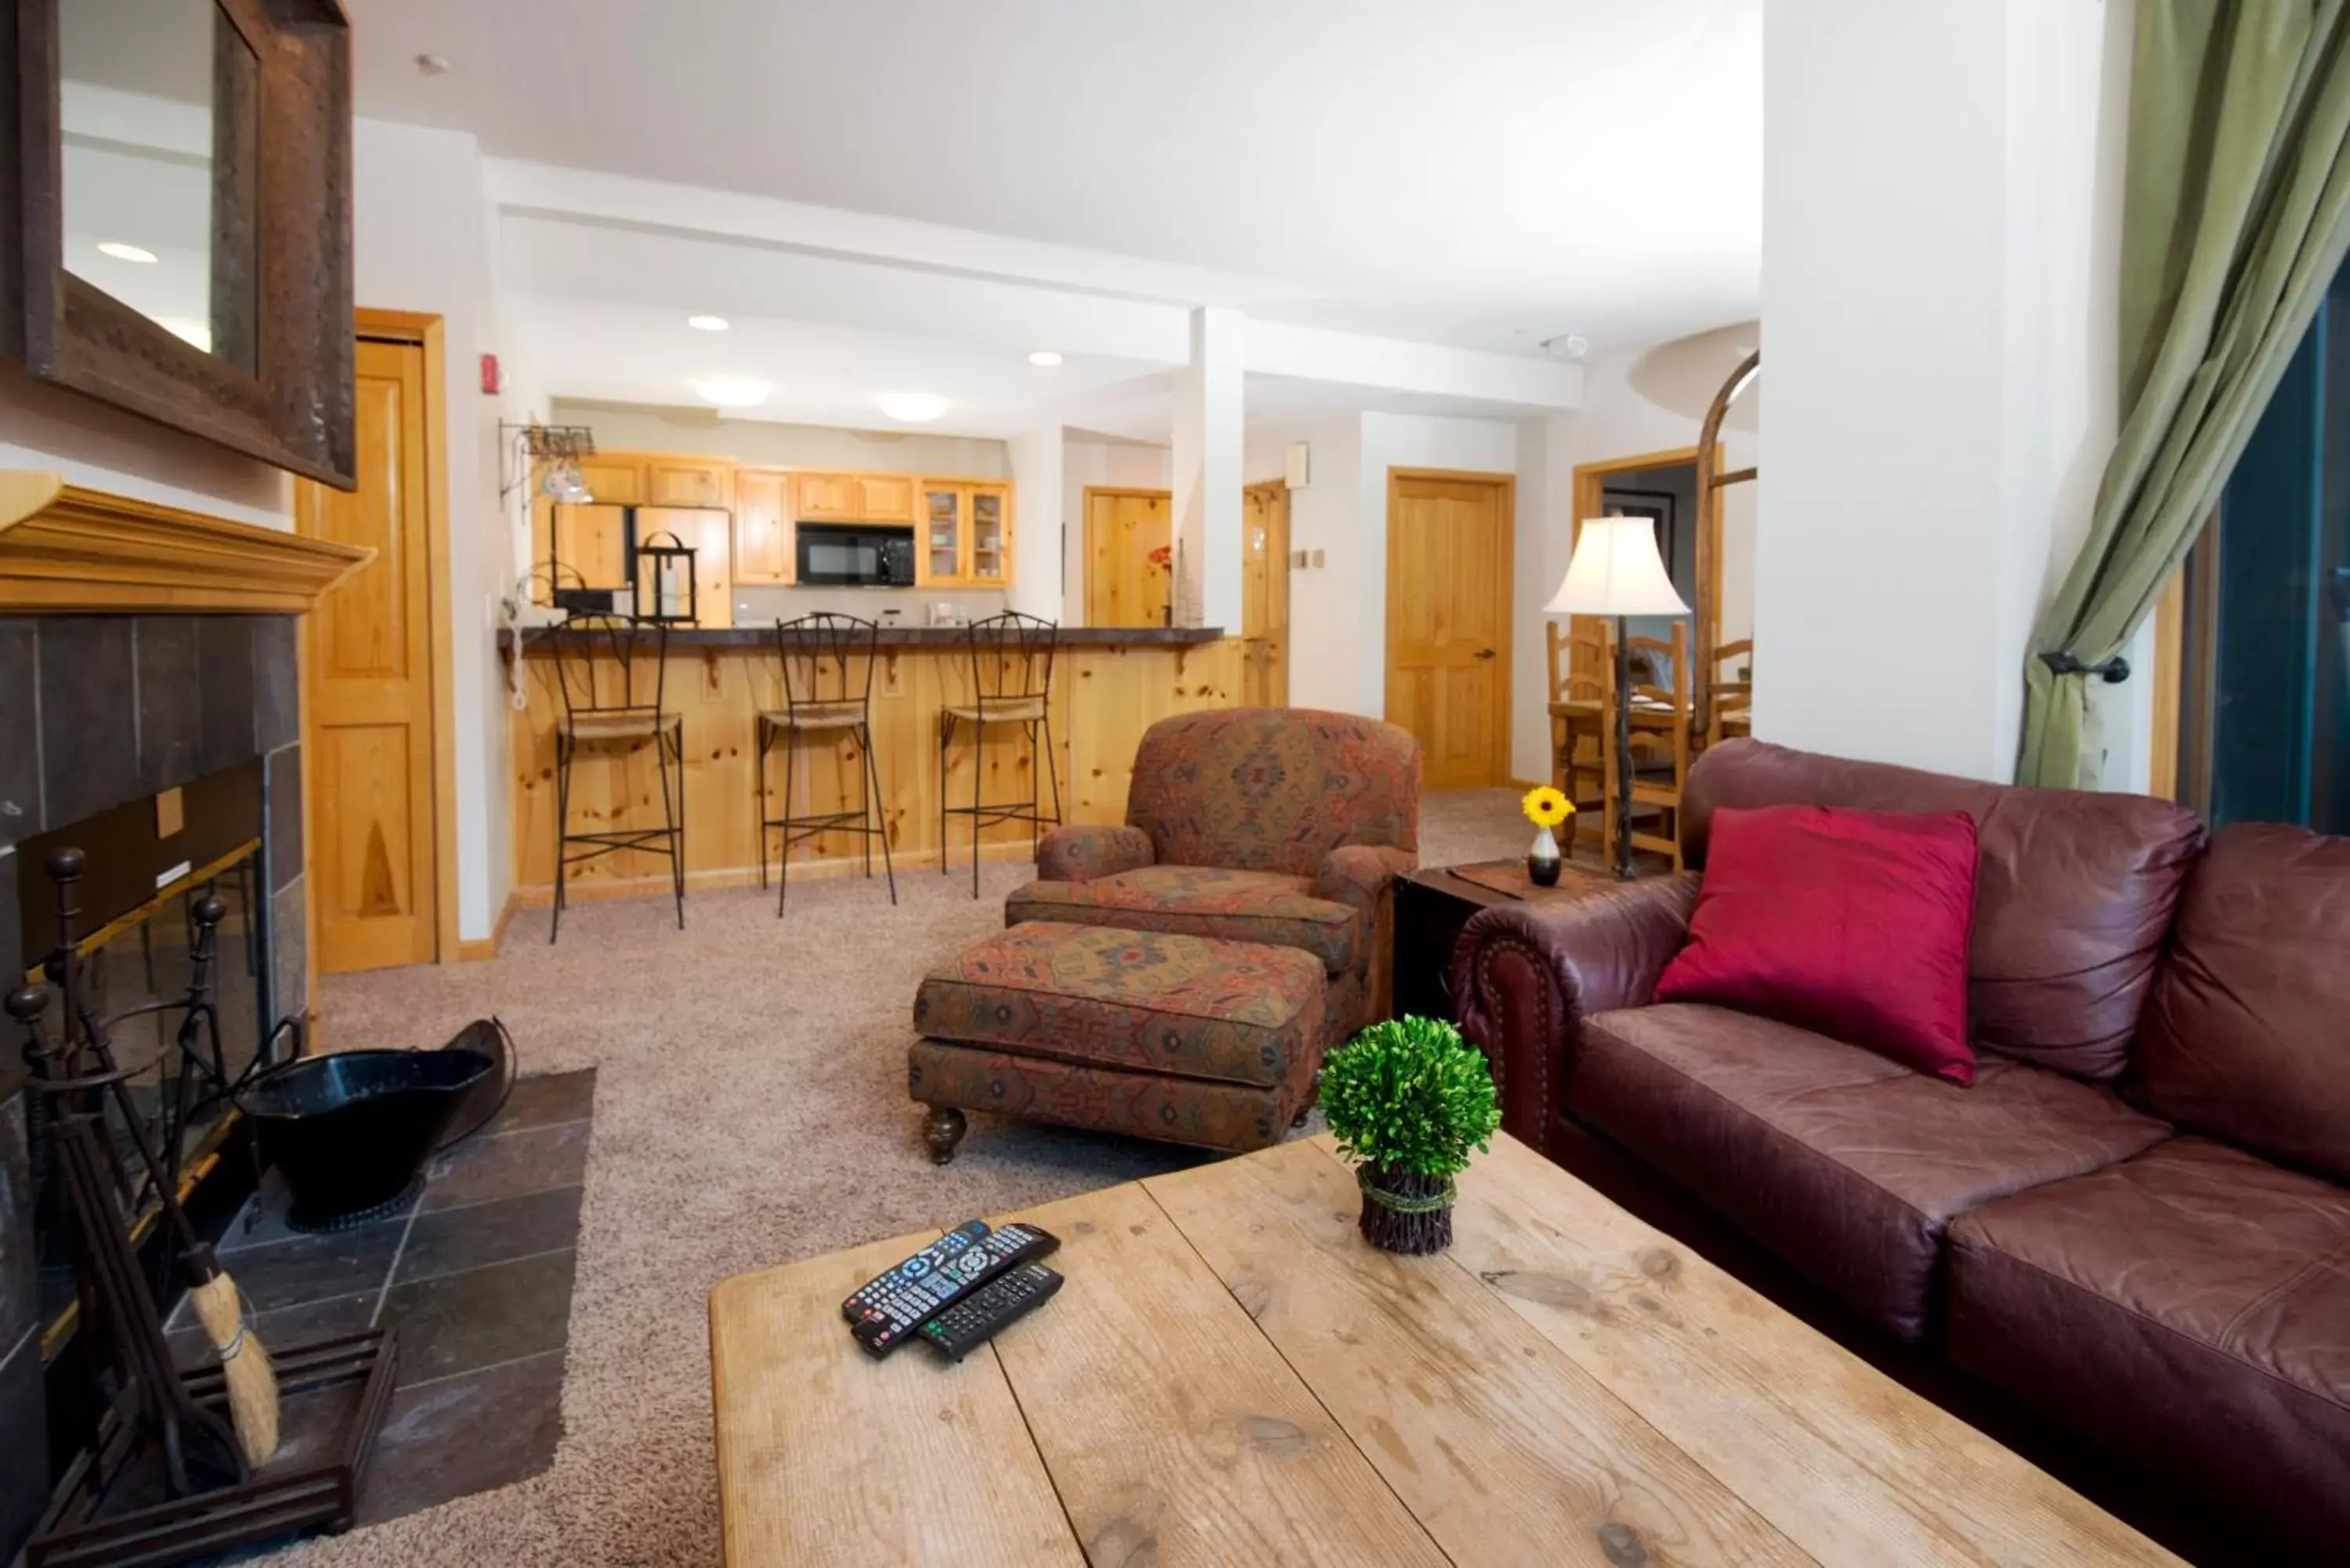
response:
M1683 875L1466 924L1504 1126L1664 1178L1896 1361L2230 1535L2350 1561L2350 839L1737 741L1690 773L1690 865L1713 811L1786 802L1974 816L1974 1088L1652 1006Z

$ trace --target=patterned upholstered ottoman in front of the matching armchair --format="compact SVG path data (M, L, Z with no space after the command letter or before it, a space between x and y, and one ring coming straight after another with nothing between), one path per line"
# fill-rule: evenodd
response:
M921 983L907 1093L938 1164L964 1110L1262 1150L1314 1093L1321 1023L1311 952L1032 922Z

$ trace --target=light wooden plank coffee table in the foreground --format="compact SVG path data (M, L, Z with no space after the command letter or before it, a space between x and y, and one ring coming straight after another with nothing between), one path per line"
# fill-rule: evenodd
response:
M1457 1239L1354 1229L1325 1140L1046 1204L1069 1284L874 1363L858 1284L710 1298L728 1563L2174 1563L1525 1145Z

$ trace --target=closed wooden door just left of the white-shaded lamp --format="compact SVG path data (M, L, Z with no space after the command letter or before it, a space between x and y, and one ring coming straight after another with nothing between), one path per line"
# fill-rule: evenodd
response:
M1509 780L1513 480L1389 470L1386 717L1431 790Z

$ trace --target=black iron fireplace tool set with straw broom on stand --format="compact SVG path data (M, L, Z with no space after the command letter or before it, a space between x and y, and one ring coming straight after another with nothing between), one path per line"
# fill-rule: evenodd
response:
M47 985L12 992L5 1011L26 1034L40 1124L75 1220L80 1324L92 1335L92 1366L103 1368L106 1413L96 1441L59 1481L26 1563L160 1566L298 1530L348 1528L392 1389L390 1331L280 1349L273 1359L251 1333L235 1281L183 1208L179 1161L188 1119L197 1105L244 1088L226 1072L212 1004L226 903L209 891L190 903L188 997L134 1009L183 1009L164 1048L174 1070L162 1074L169 1088L160 1091L157 1138L132 1093L132 1079L157 1063L118 1060L75 950L73 884L82 853L56 849L45 870L59 924L56 950L42 966ZM52 987L61 1001L59 1037L42 1025ZM214 1359L195 1371L174 1366L157 1305L167 1295L139 1265L139 1234L150 1220L164 1227L162 1246L176 1255L214 1347Z

